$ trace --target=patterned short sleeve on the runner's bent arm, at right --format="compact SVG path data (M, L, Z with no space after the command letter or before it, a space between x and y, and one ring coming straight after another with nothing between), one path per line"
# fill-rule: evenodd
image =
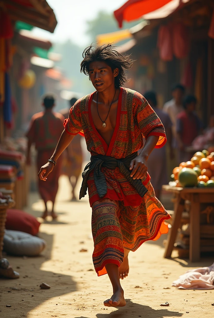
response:
M155 148L161 148L165 145L167 137L164 126L158 115L143 96L136 107L135 120L145 138L148 138L149 136L159 136Z

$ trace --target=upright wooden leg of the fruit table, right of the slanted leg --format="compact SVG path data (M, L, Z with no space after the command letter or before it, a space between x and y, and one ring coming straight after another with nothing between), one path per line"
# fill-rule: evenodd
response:
M192 194L189 222L189 260L200 259L200 202L197 194Z

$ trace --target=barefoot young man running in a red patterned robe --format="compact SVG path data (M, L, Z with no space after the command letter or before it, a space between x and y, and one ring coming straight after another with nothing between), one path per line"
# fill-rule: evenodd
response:
M93 263L98 276L108 273L113 287L113 295L104 301L107 307L126 305L120 278L129 273L128 253L167 232L163 221L170 218L147 173L148 156L165 144L165 130L140 93L121 87L131 66L130 56L110 44L84 50L81 71L96 91L71 107L53 156L38 174L46 181L74 136L84 132L91 161L82 174L80 198L88 188Z

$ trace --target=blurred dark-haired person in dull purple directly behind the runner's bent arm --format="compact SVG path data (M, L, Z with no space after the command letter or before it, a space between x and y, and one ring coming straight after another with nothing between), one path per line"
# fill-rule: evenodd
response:
M153 91L147 91L144 93L149 105L153 108L155 113L160 118L167 135L167 140L170 148L170 159L174 158L174 151L172 147L172 122L168 114L164 113L161 109L157 108L157 97ZM158 158L158 162L157 162ZM167 157L166 146L160 149L153 149L148 160L148 173L151 177L151 183L154 188L155 196L160 199L160 193L163 184L167 184Z

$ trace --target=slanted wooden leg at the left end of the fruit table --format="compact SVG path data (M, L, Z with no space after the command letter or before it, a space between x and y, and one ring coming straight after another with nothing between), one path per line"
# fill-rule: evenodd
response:
M181 224L181 216L182 212L184 210L184 201L180 197L179 194L176 194L176 202L174 205L174 214L173 214L173 221L172 221L172 227L169 230L168 237L167 237L167 245L164 253L164 257L171 257L172 250L174 247L175 239L177 236L178 228Z

